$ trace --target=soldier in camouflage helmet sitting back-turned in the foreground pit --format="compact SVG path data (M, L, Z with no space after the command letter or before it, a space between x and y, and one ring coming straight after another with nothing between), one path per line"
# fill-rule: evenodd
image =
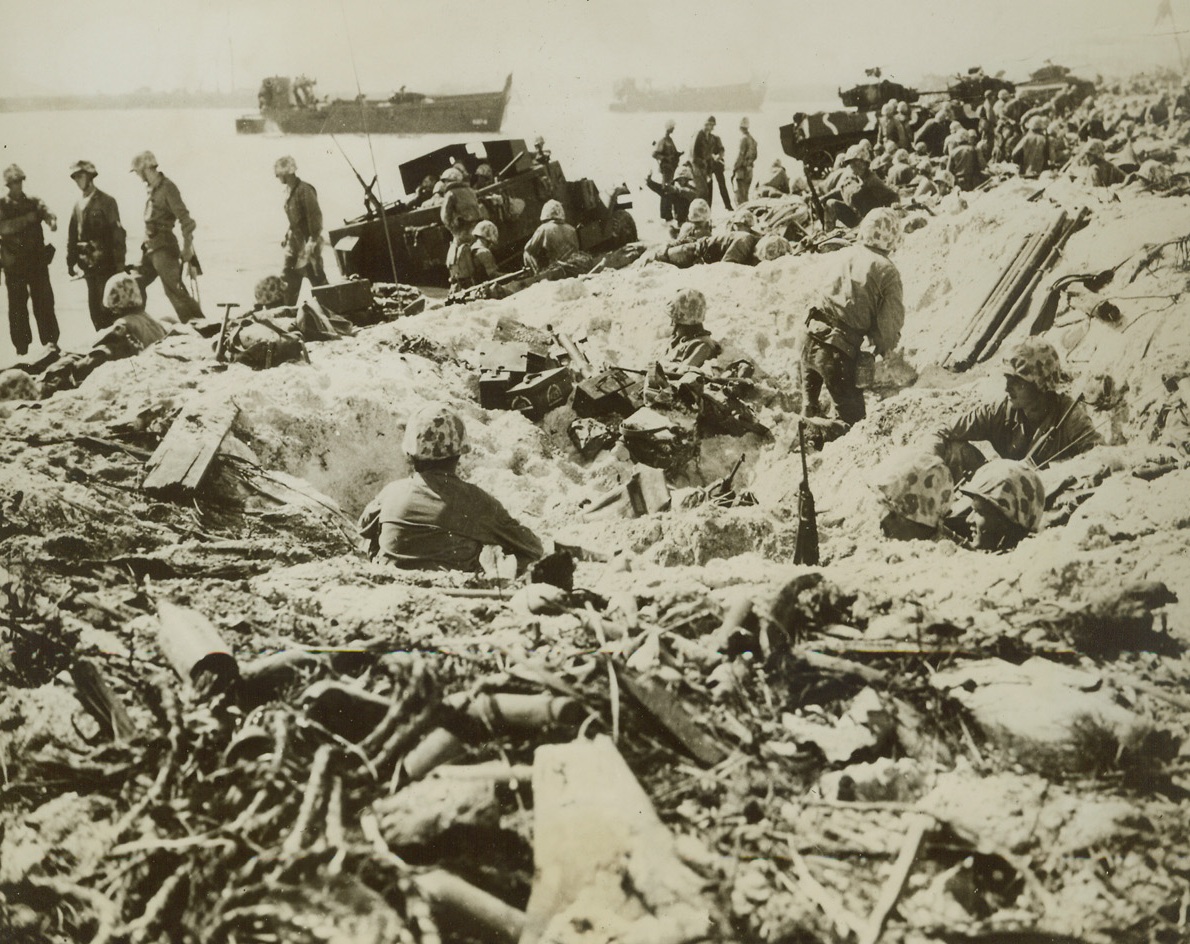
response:
M541 556L532 531L458 476L466 427L455 410L427 405L411 417L401 445L413 475L387 484L359 518L370 557L405 569L476 573L486 544L514 555L518 570Z

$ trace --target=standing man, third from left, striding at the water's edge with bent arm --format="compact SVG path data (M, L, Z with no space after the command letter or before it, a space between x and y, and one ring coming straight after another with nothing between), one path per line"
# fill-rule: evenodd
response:
M157 169L152 151L142 151L132 158L132 173L145 182L149 198L145 200L145 242L140 256L140 290L145 292L156 279L165 290L165 298L174 306L182 321L196 321L202 310L190 298L182 282L182 263L194 268L195 223L182 201L177 185ZM177 244L174 225L182 230L182 244Z

